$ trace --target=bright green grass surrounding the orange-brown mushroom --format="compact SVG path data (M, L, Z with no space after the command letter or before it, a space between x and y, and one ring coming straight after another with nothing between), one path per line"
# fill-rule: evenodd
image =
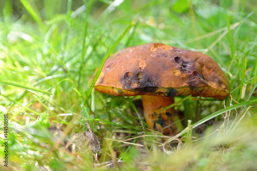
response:
M4 143L8 115L8 168L257 169L256 5L254 0L1 1L0 127ZM175 137L148 129L140 97L93 89L109 55L149 42L206 53L229 80L225 101L175 98L175 109L187 117L178 120ZM93 153L97 140L101 151ZM4 164L1 160L2 169Z

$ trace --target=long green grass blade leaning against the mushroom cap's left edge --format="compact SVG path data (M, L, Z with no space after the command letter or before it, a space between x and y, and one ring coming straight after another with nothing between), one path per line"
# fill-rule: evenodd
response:
M127 28L125 29L125 31L120 35L119 39L114 43L114 45L111 47L111 49L109 49L109 51L105 54L104 58L102 59L101 61L101 64L96 72L96 75L95 75L95 78L93 79L93 82L91 83L87 93L86 93L86 98L85 98L85 101L84 101L84 105L85 104L88 104L88 99L89 99L89 96L91 94L91 91L100 75L100 72L102 71L103 69L103 65L106 61L106 59L108 58L108 56L112 53L112 51L114 50L114 48L119 44L119 42L123 39L124 35L130 31L130 29L135 25L135 22L136 21L136 17L133 18L132 22L130 23L130 25L127 26Z

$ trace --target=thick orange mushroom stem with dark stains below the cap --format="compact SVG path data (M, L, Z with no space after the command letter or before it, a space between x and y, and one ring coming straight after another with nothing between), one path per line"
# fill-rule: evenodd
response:
M174 107L167 110L162 110L174 103L173 97L157 97L157 96L142 96L144 109L144 119L150 129L162 132L164 135L175 135L177 129L173 122L172 114L175 113Z

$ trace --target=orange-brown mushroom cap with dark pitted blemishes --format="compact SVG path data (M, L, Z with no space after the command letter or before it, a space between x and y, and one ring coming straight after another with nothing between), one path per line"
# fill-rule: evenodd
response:
M128 47L110 56L95 89L113 96L225 99L229 94L228 80L210 56L161 43Z

